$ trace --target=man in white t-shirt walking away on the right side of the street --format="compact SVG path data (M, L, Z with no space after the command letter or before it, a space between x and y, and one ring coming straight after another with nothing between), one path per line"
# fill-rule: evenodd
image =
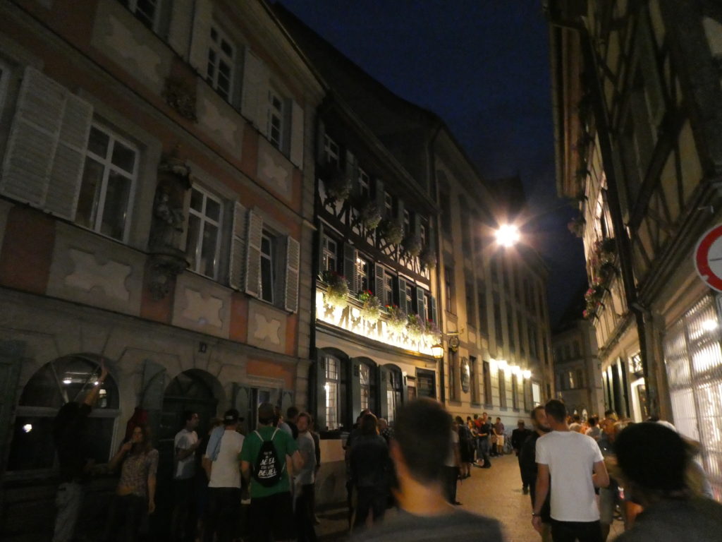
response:
M599 446L591 436L570 431L567 408L552 399L544 405L552 432L536 441L536 504L531 524L541 533L541 505L551 478L552 540L602 542L595 487L609 485Z

